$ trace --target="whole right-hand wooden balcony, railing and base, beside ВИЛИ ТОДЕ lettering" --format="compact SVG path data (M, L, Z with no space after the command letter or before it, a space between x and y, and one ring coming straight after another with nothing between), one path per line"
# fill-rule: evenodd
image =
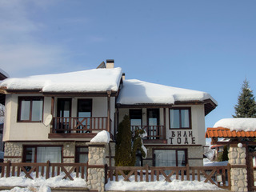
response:
M137 127L146 131L147 136L143 138L144 143L166 143L165 126L130 126L134 131Z

